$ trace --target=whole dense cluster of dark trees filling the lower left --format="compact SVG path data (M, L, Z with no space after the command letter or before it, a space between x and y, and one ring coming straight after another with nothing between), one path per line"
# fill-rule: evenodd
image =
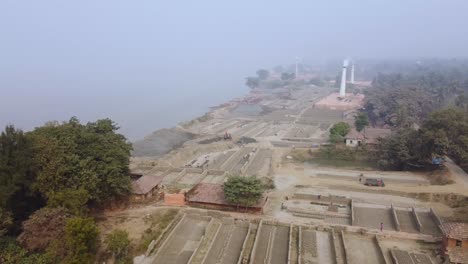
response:
M98 229L88 209L124 198L131 188L131 145L117 129L109 119L81 124L76 118L27 133L5 128L0 263L93 261Z

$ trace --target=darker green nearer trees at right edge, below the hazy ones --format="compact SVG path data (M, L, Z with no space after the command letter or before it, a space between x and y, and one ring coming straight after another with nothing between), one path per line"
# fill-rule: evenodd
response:
M421 128L401 128L381 139L379 165L386 169L433 166L434 159L449 156L468 171L468 115L462 109L433 112Z

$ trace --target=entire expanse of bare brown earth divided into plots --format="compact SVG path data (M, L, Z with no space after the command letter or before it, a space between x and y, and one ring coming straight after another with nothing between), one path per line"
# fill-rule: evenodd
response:
M143 154L132 158L132 171L163 176L165 185L188 190L199 182L223 184L230 175L255 175L272 179L275 188L266 193L263 214L193 213L195 209L178 208L183 220L177 218L155 248L135 263L298 263L300 259L341 264L347 259L351 264L378 264L390 263L391 252L402 261L425 256L441 263L434 254L441 236L437 223L453 217L453 205L468 194L468 177L458 166L449 162L455 183L441 186L431 185L423 173L383 172L360 169L361 165L345 169L333 162L322 166L287 158L293 149L326 143L331 125L350 120L352 114L345 110L314 106L332 92L330 87L309 85L258 89L179 125L170 146L164 145L164 154L158 157L144 155L154 146L142 146L138 151ZM224 139L225 133L232 139ZM169 134L155 133L148 140L163 141ZM386 186L364 186L361 174L364 180L383 179ZM103 233L115 228L129 231L137 245L145 230L157 226L158 218L150 216L164 210L168 208L161 202L148 202L107 213L99 224ZM290 234L290 230L296 231Z

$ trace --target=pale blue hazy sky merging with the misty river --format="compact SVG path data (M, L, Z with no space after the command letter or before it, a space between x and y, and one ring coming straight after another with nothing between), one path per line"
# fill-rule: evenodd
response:
M0 126L110 117L130 139L247 92L260 67L466 57L466 0L0 0Z

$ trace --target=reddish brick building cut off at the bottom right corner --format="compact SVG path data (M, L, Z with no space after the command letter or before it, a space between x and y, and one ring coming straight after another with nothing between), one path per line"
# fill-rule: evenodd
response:
M441 253L449 263L468 263L468 223L444 223Z

